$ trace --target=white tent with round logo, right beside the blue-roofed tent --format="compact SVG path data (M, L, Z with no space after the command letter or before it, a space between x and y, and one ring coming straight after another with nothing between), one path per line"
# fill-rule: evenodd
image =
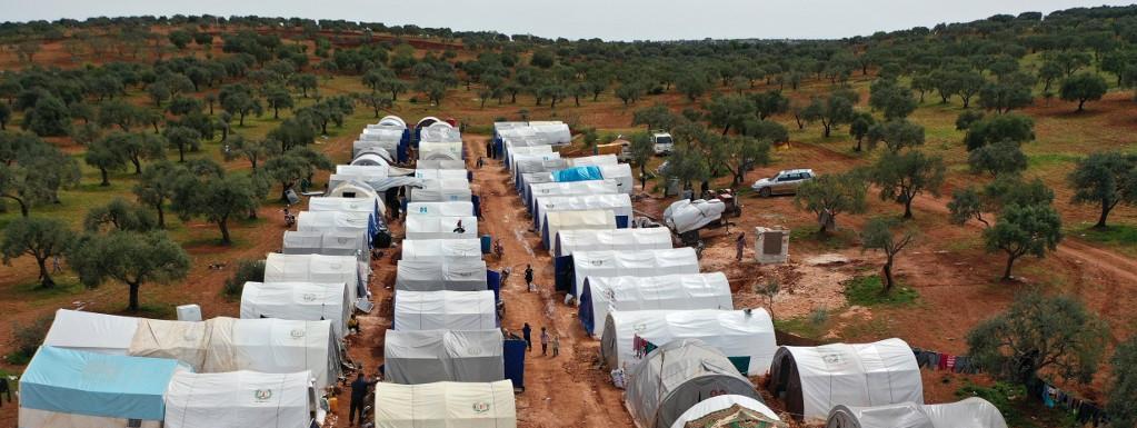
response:
M309 428L315 392L312 373L180 372L166 394L165 428Z

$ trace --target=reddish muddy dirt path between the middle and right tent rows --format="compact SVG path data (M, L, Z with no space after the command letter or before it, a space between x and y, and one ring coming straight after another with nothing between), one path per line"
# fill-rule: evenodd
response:
M472 157L484 155L482 135L466 134ZM529 322L533 328L533 352L525 360L525 392L517 395L520 427L631 427L623 409L622 392L611 386L597 369L599 341L587 337L576 323L575 311L557 302L553 294L553 263L531 231L521 199L508 182L501 163L489 160L474 171L473 187L482 197L484 220L479 230L501 238L504 261L488 256L491 269L509 268L513 274L501 285L506 304L501 326L517 332ZM531 263L539 293L526 293L523 272ZM561 355L542 356L541 327L561 335ZM520 332L518 332L520 334Z

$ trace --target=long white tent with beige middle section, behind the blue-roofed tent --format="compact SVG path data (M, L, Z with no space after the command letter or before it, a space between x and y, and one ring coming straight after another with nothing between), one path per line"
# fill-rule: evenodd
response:
M309 370L318 387L335 381L340 373L340 346L331 321L269 318L164 321L59 310L44 344L174 359L206 373Z

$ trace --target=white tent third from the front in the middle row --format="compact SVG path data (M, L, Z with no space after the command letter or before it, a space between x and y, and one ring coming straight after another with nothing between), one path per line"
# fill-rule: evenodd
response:
M496 329L493 291L395 291L396 330Z

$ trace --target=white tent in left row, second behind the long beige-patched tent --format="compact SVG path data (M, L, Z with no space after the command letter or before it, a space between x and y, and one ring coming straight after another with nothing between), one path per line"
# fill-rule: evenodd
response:
M366 269L366 268L363 268ZM348 302L367 295L356 257L318 254L269 253L265 260L265 282L341 282L348 285Z

